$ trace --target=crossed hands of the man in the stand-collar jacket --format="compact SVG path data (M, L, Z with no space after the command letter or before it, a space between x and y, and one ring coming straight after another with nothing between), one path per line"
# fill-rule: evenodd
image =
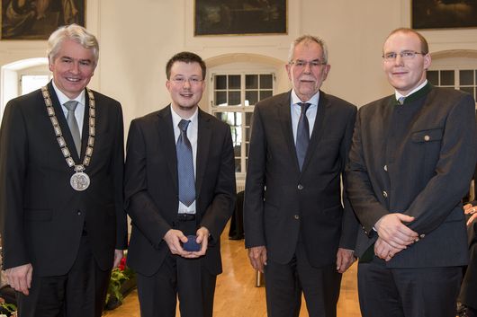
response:
M413 216L400 213L382 216L374 225L378 239L374 243L374 254L383 260L392 260L397 253L410 244L419 241L419 233L411 230L404 223L414 220Z

